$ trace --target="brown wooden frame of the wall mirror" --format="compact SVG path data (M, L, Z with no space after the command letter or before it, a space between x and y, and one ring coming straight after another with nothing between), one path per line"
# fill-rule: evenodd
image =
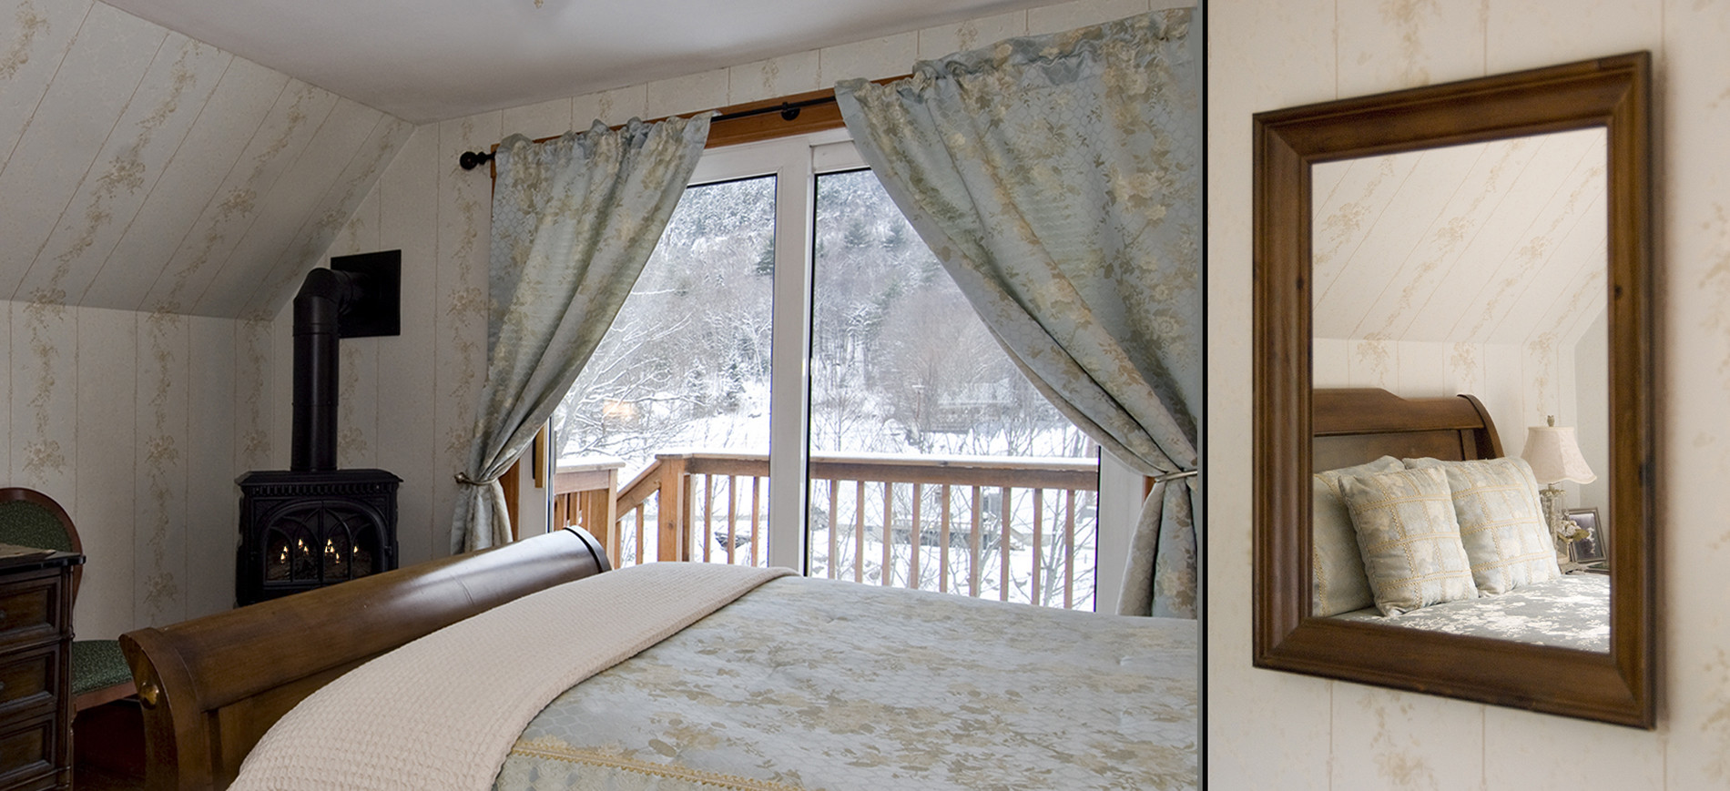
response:
M1593 126L1609 149L1609 653L1311 616L1310 166ZM1256 666L1656 725L1649 140L1645 52L1254 116Z

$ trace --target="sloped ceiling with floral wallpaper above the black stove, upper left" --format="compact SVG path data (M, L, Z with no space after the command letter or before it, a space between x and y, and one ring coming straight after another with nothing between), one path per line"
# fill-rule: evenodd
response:
M0 298L273 315L413 132L99 2L0 19Z

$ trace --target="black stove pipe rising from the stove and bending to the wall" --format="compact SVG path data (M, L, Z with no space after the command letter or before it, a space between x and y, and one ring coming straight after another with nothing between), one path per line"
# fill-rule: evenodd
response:
M360 298L360 275L327 268L294 294L294 473L336 469L337 318Z

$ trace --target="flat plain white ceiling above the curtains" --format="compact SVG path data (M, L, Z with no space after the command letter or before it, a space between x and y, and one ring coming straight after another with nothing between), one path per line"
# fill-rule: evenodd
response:
M427 123L1043 0L106 2L368 107Z

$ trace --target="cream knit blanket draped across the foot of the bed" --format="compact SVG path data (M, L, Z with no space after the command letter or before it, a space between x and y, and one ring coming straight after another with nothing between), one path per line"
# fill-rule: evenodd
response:
M313 692L232 788L486 791L548 701L789 573L656 563L493 608Z

